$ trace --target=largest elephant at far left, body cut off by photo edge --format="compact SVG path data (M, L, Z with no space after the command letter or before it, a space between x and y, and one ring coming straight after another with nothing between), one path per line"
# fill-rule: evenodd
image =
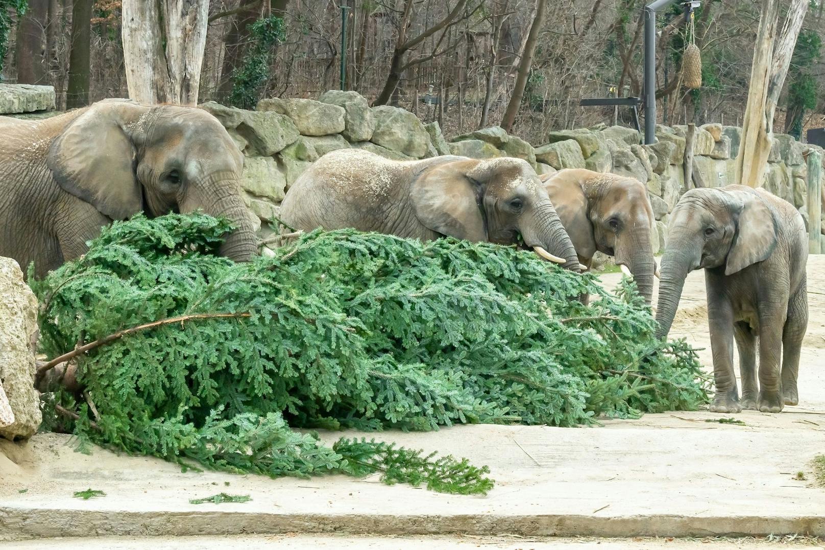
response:
M220 253L256 249L243 156L206 111L106 100L43 121L0 121L0 256L43 276L84 254L111 220L197 209L235 230Z

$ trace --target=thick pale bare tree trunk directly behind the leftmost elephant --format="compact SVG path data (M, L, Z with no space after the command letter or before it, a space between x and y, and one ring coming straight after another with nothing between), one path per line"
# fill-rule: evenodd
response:
M122 10L130 98L149 105L195 105L208 0L124 0Z

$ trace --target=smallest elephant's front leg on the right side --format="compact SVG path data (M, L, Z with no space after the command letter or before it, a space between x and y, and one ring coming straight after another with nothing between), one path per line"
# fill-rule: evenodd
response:
M759 397L757 409L776 413L782 410L782 330L787 301L762 301L759 304Z

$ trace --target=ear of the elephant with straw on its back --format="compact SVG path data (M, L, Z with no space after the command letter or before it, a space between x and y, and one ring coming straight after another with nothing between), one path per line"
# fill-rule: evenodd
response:
M428 229L457 239L487 240L482 207L487 171L481 161L458 160L425 168L410 190L417 219Z

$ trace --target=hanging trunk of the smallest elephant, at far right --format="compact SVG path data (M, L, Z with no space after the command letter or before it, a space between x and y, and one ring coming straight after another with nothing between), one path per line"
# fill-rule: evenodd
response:
M656 310L656 337L664 339L671 330L679 306L685 279L699 266L700 248L689 239L674 238L667 244L662 256L662 277L659 279L659 301Z

